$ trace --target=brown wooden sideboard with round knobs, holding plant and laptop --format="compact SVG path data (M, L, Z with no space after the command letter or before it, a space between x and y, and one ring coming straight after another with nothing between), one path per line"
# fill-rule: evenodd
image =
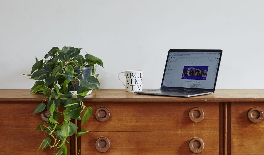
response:
M35 130L40 114L31 113L42 100L29 90L0 90L0 154L36 154L45 135ZM109 89L83 102L93 109L81 126L89 132L70 138L68 154L263 154L263 89L217 89L188 98Z

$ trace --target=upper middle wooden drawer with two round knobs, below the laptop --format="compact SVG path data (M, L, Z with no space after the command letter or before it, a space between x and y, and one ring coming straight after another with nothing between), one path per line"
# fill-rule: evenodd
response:
M89 131L219 132L219 104L215 102L84 104L93 109L83 124ZM191 121L189 115L200 122Z

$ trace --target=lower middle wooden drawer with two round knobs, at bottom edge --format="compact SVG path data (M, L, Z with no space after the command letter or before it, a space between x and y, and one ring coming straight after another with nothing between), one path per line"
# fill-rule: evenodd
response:
M99 142L98 138L104 139ZM189 142L193 138L201 139L204 148L202 149L201 142L196 140L191 142L191 147L193 147L191 149L196 150L200 146L200 154L219 154L218 133L193 132L89 132L81 138L81 153L90 155L188 155L194 154L189 149ZM106 142L108 140L110 145ZM103 153L99 152L95 145Z

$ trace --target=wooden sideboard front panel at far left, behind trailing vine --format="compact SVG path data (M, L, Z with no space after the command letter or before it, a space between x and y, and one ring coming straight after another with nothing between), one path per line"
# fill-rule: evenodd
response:
M32 114L37 104L29 102L1 103L0 154L50 155L59 151L56 147L52 149L47 147L37 153L39 145L47 137L43 131L36 131L37 126L43 121L40 113ZM70 145L67 143L66 146L68 154L70 154Z

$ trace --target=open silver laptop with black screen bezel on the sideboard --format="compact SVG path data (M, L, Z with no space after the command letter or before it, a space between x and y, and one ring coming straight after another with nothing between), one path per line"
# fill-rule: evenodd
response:
M160 89L138 94L191 97L214 93L222 50L170 49Z

